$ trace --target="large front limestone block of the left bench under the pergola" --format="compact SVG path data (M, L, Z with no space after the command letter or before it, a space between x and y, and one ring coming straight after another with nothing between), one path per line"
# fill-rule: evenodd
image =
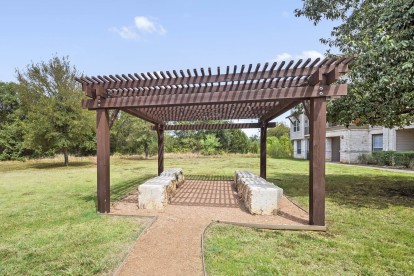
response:
M138 208L163 209L177 188L175 176L158 176L138 186Z

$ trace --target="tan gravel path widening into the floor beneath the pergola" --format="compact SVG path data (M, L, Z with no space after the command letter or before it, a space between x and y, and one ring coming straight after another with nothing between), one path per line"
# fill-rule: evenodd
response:
M156 216L117 275L202 275L201 236L211 221L308 224L308 215L283 197L279 216L246 212L232 181L187 180L162 211L138 209L136 195L115 204L113 214Z

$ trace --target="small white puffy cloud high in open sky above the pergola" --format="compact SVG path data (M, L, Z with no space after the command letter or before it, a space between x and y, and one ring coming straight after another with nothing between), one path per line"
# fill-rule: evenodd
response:
M164 35L167 30L157 22L156 19L150 19L145 16L136 16L134 18L135 25L123 27L111 27L109 31L118 34L121 38L126 40L138 40L147 34Z

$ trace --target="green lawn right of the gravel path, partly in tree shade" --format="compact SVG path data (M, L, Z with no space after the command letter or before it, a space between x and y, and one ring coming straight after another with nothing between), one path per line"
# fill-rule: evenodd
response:
M269 179L308 206L308 163L269 160ZM328 232L214 225L209 275L412 275L414 174L327 165Z

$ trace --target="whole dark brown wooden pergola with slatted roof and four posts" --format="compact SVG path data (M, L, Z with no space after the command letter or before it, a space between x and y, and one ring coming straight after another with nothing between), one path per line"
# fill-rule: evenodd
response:
M260 176L266 178L270 121L304 103L310 121L309 221L325 225L326 99L346 95L336 80L352 58L173 70L77 79L96 110L98 211L110 212L109 129L119 110L154 124L158 173L164 170L164 131L260 128ZM109 110L115 110L109 116ZM203 120L256 119L257 123L206 124ZM177 125L187 121L189 125Z

